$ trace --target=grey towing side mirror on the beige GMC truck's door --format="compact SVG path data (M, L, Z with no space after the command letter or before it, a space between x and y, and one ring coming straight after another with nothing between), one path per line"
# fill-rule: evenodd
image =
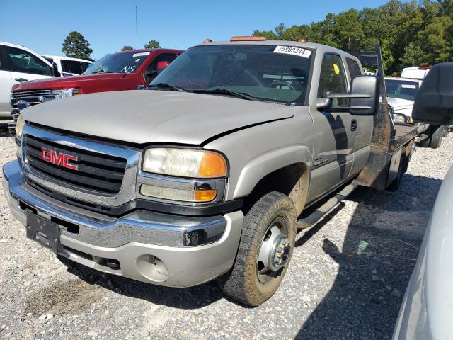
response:
M333 98L348 98L349 106L331 106ZM330 111L349 111L351 115L374 115L379 101L379 84L375 76L359 76L352 79L349 94L326 92L316 101L317 108Z

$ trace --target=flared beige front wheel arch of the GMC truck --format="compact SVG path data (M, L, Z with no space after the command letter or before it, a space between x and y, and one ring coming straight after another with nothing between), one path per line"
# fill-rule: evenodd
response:
M234 188L233 198L247 196L256 184L268 174L292 164L302 163L305 165L307 183L310 179L311 153L304 145L291 145L275 149L258 157L251 159L243 167L239 180ZM306 188L308 189L308 187Z

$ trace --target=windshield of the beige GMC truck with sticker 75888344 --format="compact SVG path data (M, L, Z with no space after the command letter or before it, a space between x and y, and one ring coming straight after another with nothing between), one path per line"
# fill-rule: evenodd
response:
M245 94L259 101L302 104L311 50L275 45L195 46L176 58L151 83L202 94ZM223 91L219 91L223 90ZM226 91L227 90L227 91ZM243 96L245 98L245 96Z

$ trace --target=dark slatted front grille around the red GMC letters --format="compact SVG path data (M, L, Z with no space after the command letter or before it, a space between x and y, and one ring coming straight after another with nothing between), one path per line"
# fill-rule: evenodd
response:
M24 147L30 170L46 181L94 194L115 194L120 191L126 169L124 158L61 145L33 135L24 136ZM42 148L77 157L71 164L78 169L46 162L41 159Z

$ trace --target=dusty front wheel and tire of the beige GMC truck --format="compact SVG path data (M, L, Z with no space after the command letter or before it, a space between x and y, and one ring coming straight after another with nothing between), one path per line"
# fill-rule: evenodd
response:
M223 292L249 306L268 300L287 271L296 237L296 210L282 193L268 193L244 217L233 268L219 278Z

